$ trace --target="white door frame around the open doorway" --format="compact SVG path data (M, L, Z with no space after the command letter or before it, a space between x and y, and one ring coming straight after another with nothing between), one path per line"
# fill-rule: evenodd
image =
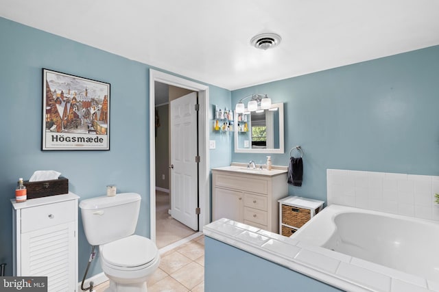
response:
M199 202L200 216L198 224L202 227L209 224L211 217L211 200L209 191L209 86L196 83L187 79L176 77L158 70L150 69L150 238L156 241L156 141L155 141L155 86L158 81L179 88L198 92L198 149L200 155L199 165ZM194 210L195 211L195 210Z

